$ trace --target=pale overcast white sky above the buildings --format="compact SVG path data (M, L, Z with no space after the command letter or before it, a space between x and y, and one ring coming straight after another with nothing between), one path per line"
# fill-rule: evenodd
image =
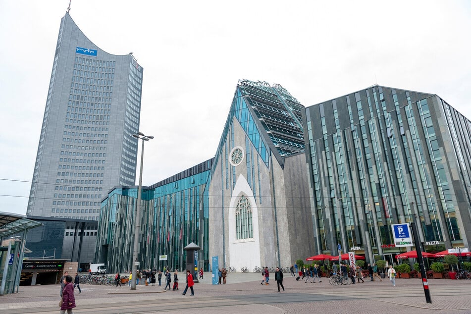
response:
M26 213L68 4L0 0L3 212ZM467 0L72 0L70 16L144 67L145 186L214 157L239 79L281 84L305 106L374 84L437 94L471 119Z

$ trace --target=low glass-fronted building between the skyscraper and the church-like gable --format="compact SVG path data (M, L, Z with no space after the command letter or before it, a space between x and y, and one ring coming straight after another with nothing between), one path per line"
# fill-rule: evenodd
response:
M209 265L209 208L206 185L213 159L142 188L140 269L184 269L191 242L199 245L200 267ZM96 261L109 272L132 269L137 186L116 187L102 201Z

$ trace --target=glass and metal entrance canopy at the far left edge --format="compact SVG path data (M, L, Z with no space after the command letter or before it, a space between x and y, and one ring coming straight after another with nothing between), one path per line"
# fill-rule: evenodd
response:
M21 266L29 229L42 223L24 215L0 211L0 295L18 292Z

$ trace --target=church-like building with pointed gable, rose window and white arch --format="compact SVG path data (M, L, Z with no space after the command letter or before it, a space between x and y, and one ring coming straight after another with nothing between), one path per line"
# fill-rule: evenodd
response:
M286 267L313 254L303 109L278 84L238 82L208 187L219 267Z

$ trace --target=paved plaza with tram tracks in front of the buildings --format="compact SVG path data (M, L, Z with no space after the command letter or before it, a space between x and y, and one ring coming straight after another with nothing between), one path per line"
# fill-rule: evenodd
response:
M195 284L195 296L164 291L162 286L96 286L75 289L74 313L471 313L471 280L429 279L432 303L427 304L420 279L367 281L349 286L296 281L285 274L286 291L277 292L274 276L261 285L260 273L229 273L227 284L212 285L210 273ZM181 277L184 274L180 274ZM22 286L0 296L0 313L58 313L59 285Z

